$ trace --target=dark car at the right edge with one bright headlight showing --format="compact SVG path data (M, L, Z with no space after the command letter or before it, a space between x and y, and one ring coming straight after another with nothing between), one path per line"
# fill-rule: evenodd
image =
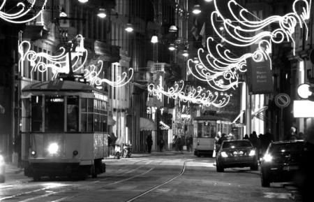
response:
M304 140L278 141L269 144L260 165L262 187L271 182L289 182L301 170Z

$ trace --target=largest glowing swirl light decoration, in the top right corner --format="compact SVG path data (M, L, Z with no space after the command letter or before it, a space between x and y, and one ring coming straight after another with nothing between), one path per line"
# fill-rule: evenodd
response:
M237 24L239 25L232 24L232 21L230 19L225 19L223 15L221 15L221 13L218 10L216 1L217 0L214 0L214 6L216 10L213 13L211 13L211 24L213 25L213 28L216 31L216 34L218 34L220 38L223 38L225 42L231 45L245 47L245 46L257 43L258 41L262 40L262 38L268 38L268 37L273 43L281 43L286 38L288 42L290 42L290 40L292 41L293 47L295 49L295 42L292 37L292 34L294 34L295 27L297 26L297 24L299 24L300 28L303 28L303 24L305 25L306 40L307 40L308 27L306 25L306 20L310 18L311 3L308 3L308 1L306 0L295 0L292 5L293 13L287 13L286 15L283 15L283 16L273 15L271 17L267 17L266 19L259 20L259 21L248 20L244 15L251 14L251 13L249 13L246 8L241 7L239 3L237 3L235 0L231 0L228 2L228 8L230 10L232 17L234 17L234 19L237 21ZM303 7L303 12L301 13L301 15L298 15L297 10L296 10L297 2L303 2L305 5ZM239 10L239 13L235 14L232 11L232 8L231 8L232 3L235 6L239 6L242 8L241 10ZM222 22L223 27L225 31L227 31L227 33L230 34L230 36L233 38L232 41L230 41L227 38L224 38L223 35L220 33L220 31L218 31L214 23L214 21L216 20L216 17L220 17L220 19L223 20ZM258 19L258 17L256 18ZM274 29L274 31L262 30L262 29L267 28L270 24L273 24L273 23L278 23L279 28ZM255 34L256 31L260 31L260 33ZM242 36L241 33L245 33L245 36ZM239 43L233 42L234 39L239 41Z

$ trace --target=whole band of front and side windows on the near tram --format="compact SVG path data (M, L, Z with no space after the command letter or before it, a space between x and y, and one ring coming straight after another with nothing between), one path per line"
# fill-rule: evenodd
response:
M107 132L107 103L79 96L31 96L33 132Z

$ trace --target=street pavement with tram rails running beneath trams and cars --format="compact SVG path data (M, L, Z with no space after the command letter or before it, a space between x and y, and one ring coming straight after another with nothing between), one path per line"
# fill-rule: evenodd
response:
M0 201L299 201L282 183L262 187L260 171L227 168L217 173L215 159L191 152L133 154L104 160L106 173L75 180L42 178L33 182L7 166Z

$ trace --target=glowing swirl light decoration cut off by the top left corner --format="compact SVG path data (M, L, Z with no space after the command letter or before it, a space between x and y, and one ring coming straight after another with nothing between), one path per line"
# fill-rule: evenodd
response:
M43 10L45 10L45 6L47 3L47 0L45 0L45 2L43 3L43 6L41 8L41 10L36 13L36 15L34 15L33 17L31 17L28 20L22 20L22 21L17 21L20 17L23 17L24 15L29 15L29 11L33 11L33 9L29 9L29 8L33 8L36 0L33 1L29 1L29 3L31 3L31 6L26 6L24 3L20 2L17 3L16 7L20 7L22 8L19 12L17 13L4 13L3 11L1 11L3 9L3 7L5 7L6 5L6 0L3 0L3 2L1 3L0 6L0 18L3 20L6 20L7 22L12 22L12 23L25 23L25 22L30 22L31 20L36 19L39 15L41 15L41 12Z

